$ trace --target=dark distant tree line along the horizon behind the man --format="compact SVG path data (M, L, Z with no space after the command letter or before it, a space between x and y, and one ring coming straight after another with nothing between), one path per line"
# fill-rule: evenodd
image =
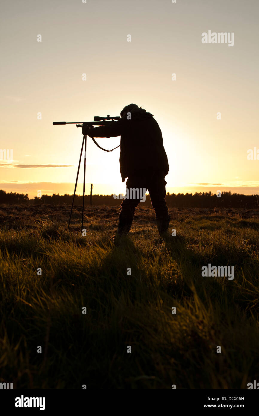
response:
M61 205L71 204L73 195L42 195L41 198L35 196L34 199L29 199L28 195L23 193L6 193L0 190L0 204L9 205ZM258 208L259 196L258 195L243 195L240 193L222 192L221 197L218 198L216 194L211 192L196 192L186 193L167 193L166 203L169 207L175 208ZM82 204L83 197L75 196L75 205ZM93 195L92 205L108 205L118 206L122 202L122 199L115 199L113 195ZM90 196L86 195L84 199L85 205L90 204ZM143 206L151 206L149 196L146 197L146 201L142 203Z

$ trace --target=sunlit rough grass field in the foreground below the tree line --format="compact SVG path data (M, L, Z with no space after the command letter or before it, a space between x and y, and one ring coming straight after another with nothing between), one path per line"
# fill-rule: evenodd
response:
M82 236L80 207L70 232L69 206L0 207L0 381L17 389L259 381L259 210L171 208L176 236L158 244L153 210L140 207L114 246L118 210L86 207ZM234 266L234 279L202 277L208 263Z

